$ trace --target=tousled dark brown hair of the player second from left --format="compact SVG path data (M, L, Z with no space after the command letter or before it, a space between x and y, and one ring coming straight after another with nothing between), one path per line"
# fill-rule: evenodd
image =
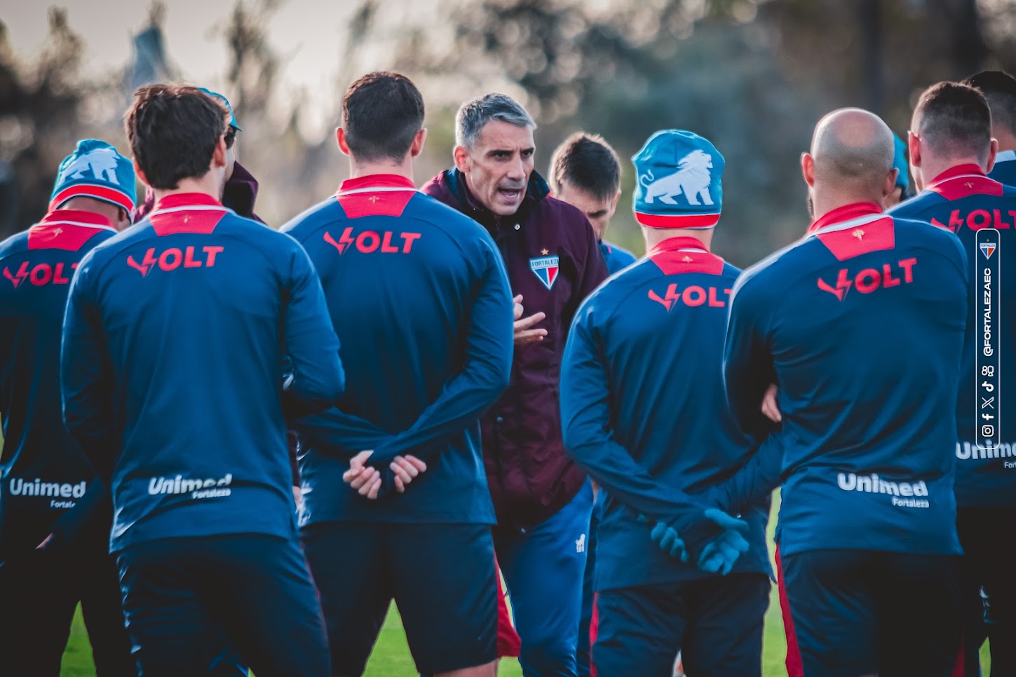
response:
M197 87L138 87L124 116L134 159L152 188L172 190L181 179L208 172L229 111Z

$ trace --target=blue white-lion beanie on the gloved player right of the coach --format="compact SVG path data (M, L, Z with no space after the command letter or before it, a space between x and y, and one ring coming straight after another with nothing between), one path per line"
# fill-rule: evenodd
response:
M666 129L633 157L635 220L651 228L711 228L723 203L723 156L694 132Z

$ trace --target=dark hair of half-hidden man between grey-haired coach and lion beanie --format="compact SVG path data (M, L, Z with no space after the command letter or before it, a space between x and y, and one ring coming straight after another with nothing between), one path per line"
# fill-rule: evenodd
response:
M568 182L597 200L613 198L621 190L621 161L604 137L576 132L558 146L551 157L551 186L556 193Z

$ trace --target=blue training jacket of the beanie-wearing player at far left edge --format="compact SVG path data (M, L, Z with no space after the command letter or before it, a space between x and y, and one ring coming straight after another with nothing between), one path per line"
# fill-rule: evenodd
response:
M39 545L92 485L63 426L60 335L74 270L116 233L105 216L58 209L0 244L0 561Z

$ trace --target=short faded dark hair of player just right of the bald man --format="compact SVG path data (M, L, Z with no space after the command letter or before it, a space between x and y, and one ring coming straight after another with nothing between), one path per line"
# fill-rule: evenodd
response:
M913 131L936 152L950 157L988 158L992 114L978 89L960 82L939 82L920 94L913 111Z

